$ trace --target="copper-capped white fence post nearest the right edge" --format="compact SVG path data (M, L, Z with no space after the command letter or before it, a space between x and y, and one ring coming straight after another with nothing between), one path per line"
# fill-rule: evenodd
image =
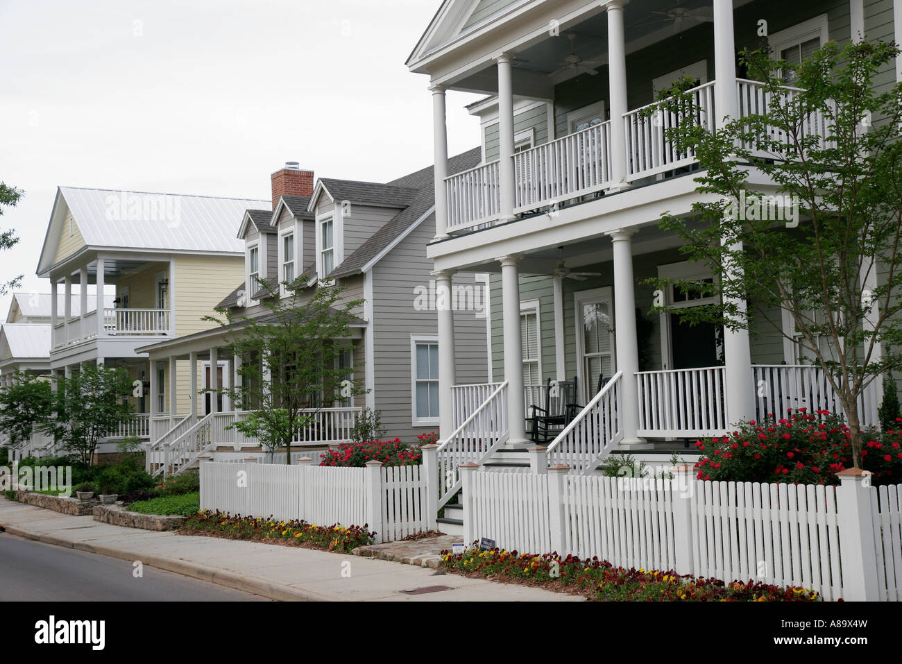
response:
M880 596L877 576L870 472L846 468L836 475L840 478L836 512L840 530L842 599L876 602L884 598Z

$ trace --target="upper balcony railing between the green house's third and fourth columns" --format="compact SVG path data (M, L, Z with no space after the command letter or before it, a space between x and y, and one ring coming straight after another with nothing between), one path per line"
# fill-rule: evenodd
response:
M673 171L695 162L695 151L680 152L667 141L667 131L680 124L700 124L714 128L714 82L687 90L684 112L665 110L661 102L642 106L623 115L626 124L626 150L629 179L639 180ZM646 115L652 111L650 115Z

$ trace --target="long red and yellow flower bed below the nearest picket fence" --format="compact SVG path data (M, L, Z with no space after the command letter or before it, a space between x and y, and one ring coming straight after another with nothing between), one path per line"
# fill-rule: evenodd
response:
M598 558L535 556L500 549L467 549L462 554L442 551L442 567L465 576L529 586L548 586L607 602L815 602L817 593L798 587L781 588L749 581L681 576L672 571L614 567Z

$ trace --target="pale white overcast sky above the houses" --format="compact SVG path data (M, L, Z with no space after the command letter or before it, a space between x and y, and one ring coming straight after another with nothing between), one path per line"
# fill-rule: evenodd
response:
M21 237L0 281L50 291L34 271L58 185L268 199L285 161L373 181L427 166L428 78L404 60L439 4L0 0L0 181L25 190L0 217ZM451 154L479 143L474 98L448 95Z

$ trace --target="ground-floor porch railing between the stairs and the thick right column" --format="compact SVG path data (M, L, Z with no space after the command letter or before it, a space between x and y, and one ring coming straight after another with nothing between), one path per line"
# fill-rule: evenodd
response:
M636 374L639 435L715 436L729 426L723 366Z

